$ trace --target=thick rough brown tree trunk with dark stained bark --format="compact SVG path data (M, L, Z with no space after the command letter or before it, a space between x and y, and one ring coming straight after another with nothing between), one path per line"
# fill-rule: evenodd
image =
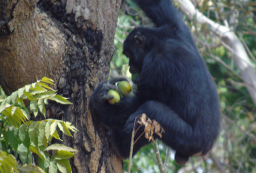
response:
M121 0L1 0L0 85L6 94L42 79L55 80L73 105L50 102L47 115L79 132L63 136L78 150L73 172L122 172L102 128L94 125L89 96L109 75Z

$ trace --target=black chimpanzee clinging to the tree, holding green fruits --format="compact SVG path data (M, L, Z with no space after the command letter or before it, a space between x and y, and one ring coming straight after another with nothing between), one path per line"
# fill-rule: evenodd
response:
M107 139L117 156L129 157L135 117L145 113L163 126L163 143L175 149L175 161L206 154L220 127L216 84L199 55L190 30L170 0L136 0L155 27L137 27L124 42L130 73L137 91L111 105L112 79L103 82L91 95L90 108L106 129ZM137 132L137 138L144 128ZM157 138L157 136L155 136ZM143 136L134 145L134 154L149 141Z

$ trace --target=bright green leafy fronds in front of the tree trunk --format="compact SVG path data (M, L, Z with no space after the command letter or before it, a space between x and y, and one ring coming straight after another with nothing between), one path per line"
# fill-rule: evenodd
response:
M45 104L53 100L60 104L71 104L67 98L58 95L48 86L52 79L44 77L40 81L26 85L7 96L0 87L0 172L71 172L68 159L75 149L63 144L51 144L52 138L60 140L58 131L72 136L75 126L61 120L29 121L42 113ZM29 109L24 104L29 102ZM37 166L35 166L37 162Z

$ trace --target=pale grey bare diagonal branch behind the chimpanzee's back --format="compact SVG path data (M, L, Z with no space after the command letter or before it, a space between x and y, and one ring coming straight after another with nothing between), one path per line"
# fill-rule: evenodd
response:
M173 0L175 2L180 3L180 9L183 13L188 17L188 19L193 20L193 17L196 16L196 20L199 24L209 24L211 25L211 31L215 33L215 35L222 39L226 45L234 50L232 52L232 56L235 60L235 64L237 68L239 68L242 78L249 91L252 100L254 100L254 104L256 105L256 74L254 72L254 68L250 63L247 52L245 51L244 46L240 42L239 38L235 33L221 24L217 24L213 20L204 16L201 12L199 12L194 5L189 0ZM222 43L223 43L222 42Z

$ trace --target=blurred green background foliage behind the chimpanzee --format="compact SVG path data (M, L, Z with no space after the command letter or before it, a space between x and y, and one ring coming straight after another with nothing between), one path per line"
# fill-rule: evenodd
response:
M256 64L256 2L255 1L193 1L194 6L209 19L228 26L244 43L255 68ZM178 6L178 3L175 4ZM183 17L193 33L199 53L203 56L213 76L219 93L222 128L213 150L204 157L193 157L186 166L178 166L171 154L167 172L256 172L256 110L249 92L235 66L232 54L222 44L208 25L196 19ZM111 61L110 78L121 75L130 79L129 60L122 55L122 43L137 25L152 26L150 20L135 5L122 2L115 35L116 53ZM160 143L162 159L166 148ZM132 159L132 171L159 172L153 145L142 148ZM126 161L127 163L127 161ZM127 164L124 164L127 170Z

